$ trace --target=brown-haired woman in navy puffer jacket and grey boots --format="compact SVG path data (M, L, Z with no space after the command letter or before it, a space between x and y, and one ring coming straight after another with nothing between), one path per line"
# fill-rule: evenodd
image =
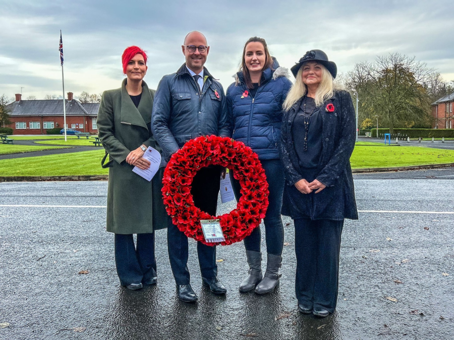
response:
M280 218L285 184L278 143L282 121L282 103L292 82L287 69L279 67L269 54L262 38L250 38L243 49L240 72L226 94L232 138L243 142L257 153L269 185L269 206L263 220L266 234L267 264L262 276L260 227L244 239L249 275L240 284L240 292L272 292L279 283L282 261L283 226ZM230 173L237 200L240 183ZM263 278L263 280L262 280Z

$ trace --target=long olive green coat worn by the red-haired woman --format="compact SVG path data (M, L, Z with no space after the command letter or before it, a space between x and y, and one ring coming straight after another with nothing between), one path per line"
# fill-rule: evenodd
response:
M148 182L126 163L129 153L141 144L160 151L150 127L154 93L143 82L137 108L126 91L126 79L120 89L102 94L96 123L99 140L109 154L106 230L112 233L152 233L167 226L160 192L163 168Z

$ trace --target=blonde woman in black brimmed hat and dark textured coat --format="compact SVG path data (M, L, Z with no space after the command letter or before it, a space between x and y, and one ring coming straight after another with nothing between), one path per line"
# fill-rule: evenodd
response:
M295 223L298 309L325 317L336 307L344 219L358 219L349 162L355 110L323 51L306 52L291 70L296 82L283 103L281 127L282 214Z

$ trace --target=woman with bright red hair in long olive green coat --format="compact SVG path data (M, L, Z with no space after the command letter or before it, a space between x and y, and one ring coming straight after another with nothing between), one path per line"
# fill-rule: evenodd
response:
M141 289L156 284L153 230L166 226L160 189L161 171L151 182L134 173L135 166L148 169L142 156L148 147L159 149L150 128L155 90L143 81L147 55L137 46L122 55L126 79L122 87L104 91L99 106L99 139L109 161L106 230L115 233L115 263L120 284ZM161 228L162 228L161 227ZM134 244L133 234L137 234Z

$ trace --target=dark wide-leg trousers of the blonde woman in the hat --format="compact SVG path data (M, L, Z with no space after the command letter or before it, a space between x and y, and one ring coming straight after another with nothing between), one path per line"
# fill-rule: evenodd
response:
M337 303L344 221L298 219L294 222L298 303L333 313Z

